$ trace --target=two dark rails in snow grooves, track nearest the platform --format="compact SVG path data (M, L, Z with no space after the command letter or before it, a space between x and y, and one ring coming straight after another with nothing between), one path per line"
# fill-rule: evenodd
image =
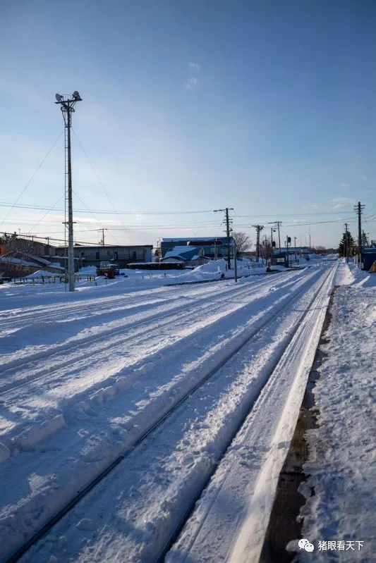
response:
M305 311L302 311L301 318L300 318L297 326L291 331L291 334L289 334L289 338L286 340L286 345L288 345L288 343L291 342L291 340L293 339L293 337L296 334L299 326L301 326L301 323L303 323L305 316L310 311L310 307L312 307L312 305L314 304L315 299L317 298L317 295L319 295L320 292L322 291L322 287L325 287L325 283L327 283L327 280L330 279L330 276L333 276L332 270L330 270L329 273L327 273L327 276L325 276L325 279L322 281L322 283L320 283L320 287L318 287L318 289L315 291L312 299L310 300L308 307L305 309ZM101 483L104 480L105 477L109 476L109 474L111 474L111 472L114 471L114 469L117 466L119 466L119 464L121 464L121 462L123 462L123 460L125 460L127 457L129 457L131 453L135 452L135 450L137 450L137 448L140 445L145 443L145 440L147 440L147 438L154 431L157 431L157 429L161 428L162 425L164 425L164 423L169 421L171 415L175 414L178 411L178 409L180 409L183 406L183 404L188 402L190 400L190 397L192 397L195 394L196 391L198 391L200 388L202 388L203 385L205 385L208 381L210 381L210 379L215 374L217 374L227 364L227 362L231 361L231 359L233 359L236 356L236 354L241 352L241 350L246 345L248 345L248 343L251 340L253 340L253 338L255 338L257 336L257 334L260 333L261 330L265 329L269 325L269 323L272 323L274 321L274 318L277 315L281 315L283 313L284 309L286 309L286 307L288 307L292 302L298 300L298 298L301 297L301 295L303 294L304 291L305 291L305 283L302 283L301 287L299 287L298 290L293 292L292 295L288 299L286 299L283 303L279 304L278 307L274 307L274 309L272 309L272 311L270 311L269 314L266 314L265 317L262 319L262 321L257 324L257 327L255 327L253 330L251 330L250 333L248 333L243 338L243 340L239 343L239 345L236 348L232 349L231 352L221 362L219 362L216 366L214 366L214 368L211 369L205 375L204 378L202 378L198 383L193 385L187 392L184 393L183 396L178 397L176 402L174 402L174 404L168 410L166 410L166 412L164 412L161 416L159 416L158 419L154 420L150 424L150 426L142 433L142 435L140 435L138 437L137 440L135 440L135 442L131 446L127 447L127 449L125 451L123 451L118 457L116 457L116 459L114 459L111 462L111 464L109 464L107 466L106 469L101 471L101 473L98 474L96 476L96 478L93 479L90 483L88 483L85 486L85 488L80 490L78 492L78 494L75 495L75 497L72 498L70 500L70 502L68 502L66 504L66 506L64 506L51 519L49 519L49 521L47 521L46 524L44 524L44 526L42 526L40 528L40 530L37 531L37 533L35 533L27 542L25 542L16 552L14 552L13 555L11 555L11 557L9 557L6 560L7 563L13 563L13 562L18 561L18 559L20 559L20 557L22 555L24 555L26 552L28 552L28 550L30 550L30 547L35 545L38 542L38 540L40 540L40 538L45 536L49 532L49 530L51 530L51 528L53 526L55 526L55 524L57 524L59 521L61 521L61 519L63 519L63 516L68 514L68 512L70 512L73 509L73 507L78 505L78 502L80 502L80 500L83 500L85 497L87 497L87 495L90 493L90 491L94 490L95 487L97 487L97 485L99 485L99 483ZM278 361L279 361L279 359L277 359L277 361L275 362L275 365L277 365ZM272 371L273 371L275 365L270 370L269 376L272 375ZM266 385L266 383L265 383L265 385ZM262 388L265 385L262 385ZM262 391L262 388L260 388L259 395L260 395L260 392ZM248 415L250 409L252 409L252 406L253 406L252 404L248 405L249 408L246 409L245 416ZM243 418L238 421L235 433L233 433L231 435L231 439L227 440L227 442L223 445L222 453L221 453L221 456L219 457L219 459L217 459L217 463L215 464L215 466L213 466L210 474L205 476L205 480L202 481L200 483L200 485L198 486L195 494L192 497L192 502L190 502L190 505L189 505L189 507L187 507L183 516L181 516L181 518L179 518L178 524L174 527L174 530L169 534L169 538L164 542L162 550L160 550L160 553L156 557L155 560L162 561L163 558L164 558L164 555L169 550L169 547L171 547L172 543L174 543L174 540L178 536L178 533L181 531L181 528L183 528L184 524L186 523L186 521L187 521L187 519L188 519L188 517L189 517L189 515L190 515L190 513L193 509L193 506L195 505L196 500L198 499L198 497L200 497L202 490L204 490L205 486L207 485L207 482L210 480L210 477L214 473L215 468L217 467L217 464L219 463L219 460L222 459L224 453L226 452L227 447L229 446L229 443L231 443L231 440L234 438L234 435L236 434L238 429L241 428L241 425L243 424L245 416L243 416Z

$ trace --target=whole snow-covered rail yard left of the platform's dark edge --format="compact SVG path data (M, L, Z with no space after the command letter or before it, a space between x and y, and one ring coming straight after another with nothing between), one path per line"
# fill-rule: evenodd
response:
M0 561L123 454L21 560L156 561L224 453L166 561L256 561L330 290L371 291L337 264L0 286Z

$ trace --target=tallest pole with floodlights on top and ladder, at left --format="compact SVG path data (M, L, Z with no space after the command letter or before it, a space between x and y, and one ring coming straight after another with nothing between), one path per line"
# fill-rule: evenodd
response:
M65 178L66 178L66 203L68 202L68 282L69 291L74 291L74 249L73 249L73 203L72 203L72 161L71 161L71 126L72 113L75 111L76 101L81 101L77 90L71 98L56 94L55 104L59 104L65 124ZM66 221L67 223L67 221Z

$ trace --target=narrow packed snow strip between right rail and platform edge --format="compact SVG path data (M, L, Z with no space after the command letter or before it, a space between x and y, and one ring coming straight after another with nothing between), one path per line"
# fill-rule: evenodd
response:
M333 273L200 498L168 563L257 561L320 338ZM267 352L267 350L265 350ZM266 366L267 367L267 364ZM270 368L269 368L270 369Z

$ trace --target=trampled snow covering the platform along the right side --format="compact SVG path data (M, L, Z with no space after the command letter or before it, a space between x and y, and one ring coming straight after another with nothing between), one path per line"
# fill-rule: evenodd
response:
M320 347L319 426L308 431L303 468L310 477L302 488L302 533L315 556L302 550L302 563L375 561L376 274L352 264L341 269L346 285L336 291L328 342Z

